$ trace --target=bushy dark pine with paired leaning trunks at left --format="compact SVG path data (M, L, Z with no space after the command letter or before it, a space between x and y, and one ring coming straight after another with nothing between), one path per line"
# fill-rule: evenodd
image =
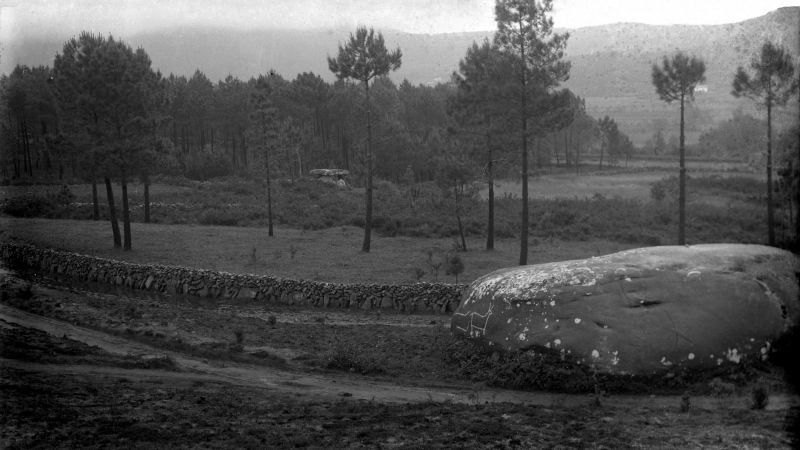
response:
M127 180L141 166L144 141L153 135L154 95L161 75L154 72L143 49L133 50L112 36L83 32L64 44L53 64L53 85L62 116L75 123L71 132L87 135L105 172L109 216L114 246L120 246L111 177L117 175L122 189L124 242L130 250L130 209Z

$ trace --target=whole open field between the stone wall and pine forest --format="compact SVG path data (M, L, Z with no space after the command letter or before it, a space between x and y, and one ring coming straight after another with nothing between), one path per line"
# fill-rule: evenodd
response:
M581 175L555 168L532 177L529 262L674 244L677 180L674 171L663 166L671 163L653 159L638 161L636 168L587 169ZM736 163L691 164L696 170L690 172L687 182L687 241L763 243L766 208L759 176ZM139 263L290 278L456 281L445 275L444 265L438 272L431 265L458 245L453 205L433 183L418 184L416 191L385 181L376 184L370 253L360 252L364 212L363 190L359 189L338 190L311 180L276 182L273 211L277 232L269 238L265 187L258 180L163 179L151 186L151 224L142 223L143 186L132 183L132 252L113 249L111 228L102 220L107 214L102 192L101 220L95 222L88 220L90 185L69 185L68 200L58 200L61 189L58 185L0 187L0 206L6 212L0 216L2 238ZM658 198L654 197L656 190ZM460 282L513 266L519 259L519 183L498 181L495 192L494 251L482 250L485 195L463 205L469 251L458 253L465 265ZM781 220L784 212L779 210L777 216L779 237L786 233Z

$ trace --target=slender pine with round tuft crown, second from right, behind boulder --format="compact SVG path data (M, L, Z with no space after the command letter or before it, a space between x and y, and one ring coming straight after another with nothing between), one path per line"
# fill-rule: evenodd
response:
M705 81L706 65L703 60L684 52L675 53L671 59L664 57L659 67L653 65L653 85L661 100L679 101L680 122L680 172L678 174L678 244L686 244L686 148L684 136L684 109L687 101L694 100L694 88Z

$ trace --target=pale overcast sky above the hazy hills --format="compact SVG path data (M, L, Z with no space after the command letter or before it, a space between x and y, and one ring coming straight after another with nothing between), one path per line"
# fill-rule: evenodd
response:
M616 22L721 24L797 0L555 0L556 27ZM170 24L354 28L411 33L494 30L494 0L0 0L0 39L22 30L129 35Z

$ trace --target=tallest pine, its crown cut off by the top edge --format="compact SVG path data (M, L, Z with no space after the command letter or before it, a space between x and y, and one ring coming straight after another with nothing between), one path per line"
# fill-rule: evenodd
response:
M569 76L563 61L568 34L553 33L552 0L497 0L495 42L517 60L520 141L522 152L522 229L519 264L528 263L528 134L532 116L543 115L550 91ZM533 100L533 101L531 101ZM529 105L531 104L531 105ZM533 108L531 106L534 106ZM541 129L534 127L534 132Z

